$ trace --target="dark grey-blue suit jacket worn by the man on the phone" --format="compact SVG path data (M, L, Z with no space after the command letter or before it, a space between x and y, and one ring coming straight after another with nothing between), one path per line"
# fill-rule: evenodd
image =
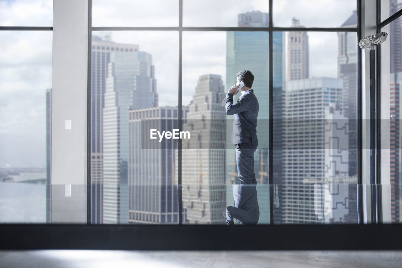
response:
M225 108L227 115L234 115L232 144L258 144L256 126L259 106L254 90L249 89L246 91L236 103L233 103L233 94L226 94Z

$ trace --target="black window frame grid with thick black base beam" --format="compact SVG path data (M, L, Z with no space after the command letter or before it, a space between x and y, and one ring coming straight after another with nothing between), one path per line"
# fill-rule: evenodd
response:
M58 0L54 0L55 2ZM60 0L59 0L60 1ZM92 0L88 4L88 52L87 59L87 96L91 96L91 36L92 31L178 31L179 33L179 74L178 74L178 125L181 131L182 119L182 43L183 31L268 31L269 32L269 145L273 146L273 32L275 31L317 31L317 32L355 32L358 39L362 38L362 2L365 6L374 0L357 0L357 28L320 28L320 27L273 27L273 0L269 1L269 27L183 27L183 0L179 1L178 27L92 27ZM377 8L379 1L375 0ZM74 3L81 2L75 0ZM378 10L377 10L378 12ZM379 12L380 13L380 12ZM53 13L53 17L58 13ZM377 30L402 15L398 11L390 18L379 23L377 14ZM0 31L53 31L52 27L0 27ZM54 31L53 31L54 35ZM357 45L357 44L356 44ZM362 181L362 51L357 53L357 184L358 184L358 225L273 225L273 188L270 187L270 222L271 225L257 225L252 227L220 226L220 225L182 225L182 213L179 213L178 225L94 225L91 221L91 181L90 181L90 126L91 126L91 99L86 99L86 224L2 224L0 234L4 239L1 249L203 249L203 250L236 250L236 249L402 249L397 239L392 239L402 225L363 225L367 223L367 215L363 207ZM377 50L377 59L380 56ZM379 66L377 66L379 68ZM366 76L367 77L367 76ZM379 79L377 72L377 79ZM378 116L378 115L377 115ZM52 124L54 127L54 124ZM377 139L379 136L376 137ZM379 143L378 143L379 144ZM380 147L379 147L380 148ZM181 140L178 142L178 198L181 200ZM53 154L52 154L53 157ZM377 155L380 159L380 155ZM273 178L273 153L269 152L269 184ZM377 165L379 162L377 161ZM363 167L366 168L366 167ZM377 169L379 170L379 169ZM379 181L381 181L381 178ZM179 211L182 210L181 202ZM379 204L381 205L381 203ZM238 229L238 228L241 228ZM247 230L245 231L244 228ZM66 243L65 238L71 239ZM326 239L322 240L325 236ZM236 237L236 238L235 238ZM292 243L286 239L292 237ZM354 237L355 239L350 239ZM284 239L285 238L285 239ZM133 243L135 239L135 243ZM199 240L197 240L199 239ZM174 241L174 243L172 243ZM197 241L197 242L195 242ZM239 248L239 241L242 248ZM275 241L271 243L270 241ZM310 243L306 243L310 241ZM345 243L348 241L348 243ZM228 243L229 242L229 243ZM232 243L230 243L232 242Z

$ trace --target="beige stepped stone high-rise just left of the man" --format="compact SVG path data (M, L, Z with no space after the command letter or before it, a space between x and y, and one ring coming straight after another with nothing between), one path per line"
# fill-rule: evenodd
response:
M226 223L222 215L226 209L225 95L220 75L199 76L183 124L183 131L191 133L189 140L182 140L183 208L189 223Z

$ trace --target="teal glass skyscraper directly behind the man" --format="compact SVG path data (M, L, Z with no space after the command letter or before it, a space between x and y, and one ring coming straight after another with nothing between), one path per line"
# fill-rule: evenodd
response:
M239 27L268 27L268 13L260 11L246 12L238 15ZM283 80L285 66L284 49L285 35L283 32L273 32L273 118L274 118L274 177L273 182L280 184L282 180L282 119L283 119ZM236 84L234 76L241 70L250 70L254 74L252 89L260 103L257 119L258 148L254 153L254 173L256 174L258 204L260 206L260 220L258 223L269 223L269 191L268 184L268 150L269 150L269 34L268 32L228 32L226 34L226 88ZM234 96L236 102L240 94ZM230 145L233 115L226 117L226 144ZM240 183L236 169L236 157L233 150L226 154L226 183L233 180ZM279 191L281 188L277 188ZM232 186L228 185L228 193L232 193ZM279 192L277 192L278 194ZM278 195L281 196L280 194ZM233 196L227 194L227 204L233 204ZM281 203L281 200L279 200ZM278 203L276 203L278 204ZM280 213L277 208L277 213ZM275 214L274 214L275 216Z

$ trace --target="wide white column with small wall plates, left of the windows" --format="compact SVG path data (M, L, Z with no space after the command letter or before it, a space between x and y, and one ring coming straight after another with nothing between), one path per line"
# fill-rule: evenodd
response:
M88 1L53 0L53 223L86 223L87 62Z

